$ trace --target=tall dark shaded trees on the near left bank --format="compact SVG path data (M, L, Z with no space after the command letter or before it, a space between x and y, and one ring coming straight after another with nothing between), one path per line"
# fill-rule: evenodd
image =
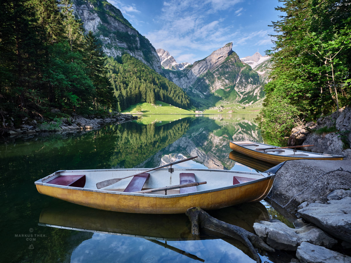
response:
M89 113L115 98L105 58L69 0L1 1L0 112L17 121L49 108ZM50 112L50 111L49 111Z

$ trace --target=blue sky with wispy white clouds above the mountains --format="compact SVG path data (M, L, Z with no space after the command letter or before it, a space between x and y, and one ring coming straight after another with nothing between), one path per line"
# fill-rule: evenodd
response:
M240 58L273 46L278 0L108 0L152 45L178 63L203 59L233 42Z

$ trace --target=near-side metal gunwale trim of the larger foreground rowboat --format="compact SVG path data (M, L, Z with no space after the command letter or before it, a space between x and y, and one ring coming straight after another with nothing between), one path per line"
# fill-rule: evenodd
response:
M192 192L192 193L187 193L187 194L173 194L173 195L126 193L126 192L98 190L98 189L95 190L95 189L71 187L71 186L60 186L60 185L57 185L57 184L49 184L49 183L42 183L42 186L65 188L65 189L88 191L88 192L96 192L96 193L105 193L105 194L115 194L115 195L135 195L135 196L143 196L143 197L172 198L172 197L183 197L183 196L189 196L189 195L205 194L205 193L210 193L210 192L216 192L216 191L222 191L222 190L227 190L227 189L231 189L231 188L236 188L236 187L240 187L240 186L246 186L247 184L252 184L252 183L256 183L256 182L267 180L268 178L271 178L272 176L273 175L269 175L269 176L264 177L264 178L255 179L255 180L252 180L252 181L249 181L249 182L245 182L245 183L234 184L232 186L226 186L226 187L214 188L214 189L209 189L209 190L197 191L197 192Z

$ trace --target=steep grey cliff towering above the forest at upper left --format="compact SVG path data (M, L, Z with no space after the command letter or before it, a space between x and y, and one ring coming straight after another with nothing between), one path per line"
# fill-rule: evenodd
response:
M92 31L101 40L108 56L127 52L157 73L162 73L155 48L126 20L121 11L105 0L73 0L74 15L81 19L86 32Z

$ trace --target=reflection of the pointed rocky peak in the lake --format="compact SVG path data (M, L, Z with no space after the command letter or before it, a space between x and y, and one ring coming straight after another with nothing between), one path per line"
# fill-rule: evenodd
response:
M249 118L247 118L249 117ZM246 119L245 119L246 118ZM183 137L159 151L138 167L159 166L161 157L169 153L198 156L197 162L210 169L231 169L235 162L228 156L230 140L262 141L250 115L206 115L193 119Z

